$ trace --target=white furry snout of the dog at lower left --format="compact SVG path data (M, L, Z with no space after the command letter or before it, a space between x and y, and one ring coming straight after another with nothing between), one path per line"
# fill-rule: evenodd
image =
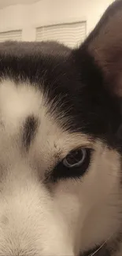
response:
M43 184L19 180L18 184L9 181L5 187L0 210L0 255L72 256L65 223Z

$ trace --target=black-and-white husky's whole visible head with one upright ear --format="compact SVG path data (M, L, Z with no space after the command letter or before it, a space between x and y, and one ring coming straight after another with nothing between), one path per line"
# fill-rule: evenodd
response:
M120 233L120 13L76 50L0 46L2 256L88 255Z

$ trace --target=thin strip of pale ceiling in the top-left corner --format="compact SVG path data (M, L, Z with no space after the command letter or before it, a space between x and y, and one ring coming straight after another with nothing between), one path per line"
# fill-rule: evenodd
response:
M39 0L0 0L0 9L6 6L12 6L17 4L31 4L32 2L38 2Z

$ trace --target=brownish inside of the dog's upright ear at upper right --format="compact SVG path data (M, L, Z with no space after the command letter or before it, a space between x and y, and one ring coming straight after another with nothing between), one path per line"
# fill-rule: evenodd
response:
M109 6L80 50L87 50L102 70L110 93L122 97L122 0Z

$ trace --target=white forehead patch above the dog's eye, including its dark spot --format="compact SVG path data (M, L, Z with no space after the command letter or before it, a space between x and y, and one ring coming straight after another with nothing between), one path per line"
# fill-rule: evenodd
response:
M59 121L58 107L51 104L37 87L3 80L0 87L0 141L5 150L2 147L2 151L14 157L20 152L17 153L17 147L19 150L29 149L31 158L49 162L65 157L76 147L89 145L90 139L86 135L68 132L65 115L60 115Z

